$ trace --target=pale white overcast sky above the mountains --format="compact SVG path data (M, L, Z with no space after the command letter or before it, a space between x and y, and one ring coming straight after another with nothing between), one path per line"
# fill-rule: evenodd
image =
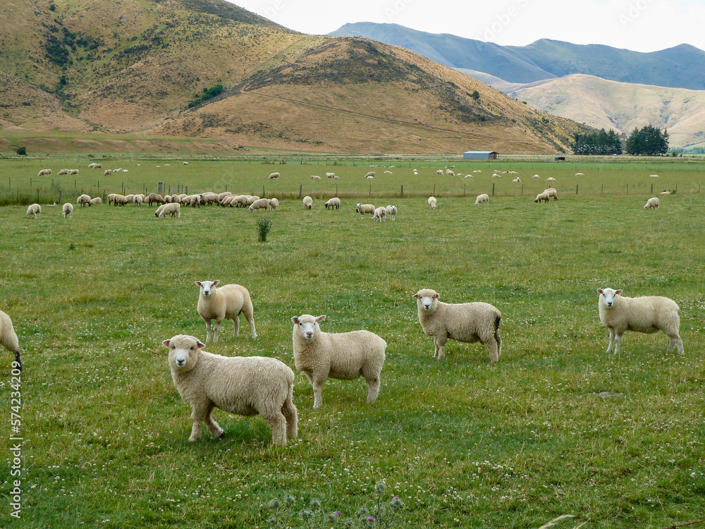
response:
M324 35L348 22L523 46L537 39L656 51L705 50L702 0L229 0L292 30Z

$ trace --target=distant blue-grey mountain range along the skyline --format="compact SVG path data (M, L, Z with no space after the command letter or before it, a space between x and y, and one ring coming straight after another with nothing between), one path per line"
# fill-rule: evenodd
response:
M510 83L584 73L620 83L705 90L705 51L689 44L651 53L549 39L528 46L500 46L369 22L345 24L330 35L369 37L416 51L451 68L489 73Z

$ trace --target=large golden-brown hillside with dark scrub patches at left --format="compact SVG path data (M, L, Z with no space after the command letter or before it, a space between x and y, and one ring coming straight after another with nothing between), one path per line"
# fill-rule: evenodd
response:
M221 0L6 0L0 49L6 137L196 137L223 148L311 152L558 152L584 128L407 49L302 35Z

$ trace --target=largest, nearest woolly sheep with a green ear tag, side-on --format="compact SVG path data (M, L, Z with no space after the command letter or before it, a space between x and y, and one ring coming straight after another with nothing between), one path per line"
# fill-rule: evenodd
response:
M298 430L293 401L294 372L276 358L226 357L202 351L194 336L177 334L164 340L171 377L181 398L191 406L193 427L188 438L201 437L201 423L221 439L223 429L212 418L214 408L251 417L262 415L271 429L271 441L284 446Z

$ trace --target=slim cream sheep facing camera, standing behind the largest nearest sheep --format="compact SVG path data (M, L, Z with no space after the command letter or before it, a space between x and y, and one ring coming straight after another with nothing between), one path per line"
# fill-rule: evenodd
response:
M235 324L235 338L240 330L240 312L250 324L252 339L257 338L255 330L255 317L253 316L252 299L247 288L238 284L229 284L216 288L220 284L216 281L195 281L200 287L198 296L198 315L206 322L206 343L211 339L211 320L213 324L213 343L218 341L218 331L223 320L233 320Z

